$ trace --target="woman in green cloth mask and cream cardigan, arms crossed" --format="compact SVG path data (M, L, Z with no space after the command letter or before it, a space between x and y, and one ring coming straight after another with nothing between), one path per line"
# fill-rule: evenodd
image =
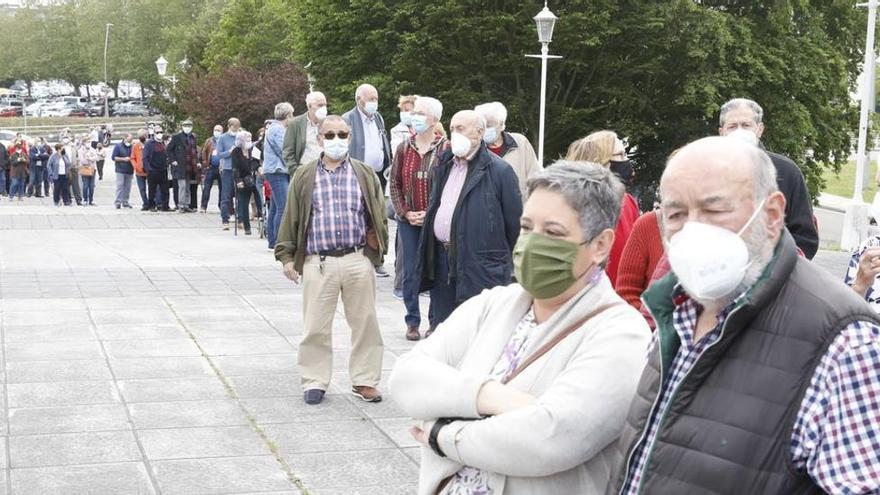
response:
M466 301L391 376L419 494L605 492L651 336L603 270L623 185L561 161L527 190L519 283Z

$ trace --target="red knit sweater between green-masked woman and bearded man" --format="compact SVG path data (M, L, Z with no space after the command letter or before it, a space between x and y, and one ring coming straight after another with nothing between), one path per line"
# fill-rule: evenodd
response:
M651 275L663 257L663 241L657 214L645 213L633 225L632 233L623 249L623 258L617 270L617 293L636 309L641 309L639 299L648 288Z

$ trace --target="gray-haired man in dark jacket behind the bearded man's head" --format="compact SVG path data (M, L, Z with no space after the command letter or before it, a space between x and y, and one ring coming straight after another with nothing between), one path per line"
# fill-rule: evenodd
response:
M734 98L721 106L718 134L739 138L764 149L764 109L752 100ZM813 217L813 201L801 169L788 157L764 150L776 168L776 181L785 196L785 226L808 259L819 250L819 232Z

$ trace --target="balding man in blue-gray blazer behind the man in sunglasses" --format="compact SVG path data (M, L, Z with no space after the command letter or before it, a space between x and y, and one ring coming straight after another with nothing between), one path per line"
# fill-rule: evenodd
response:
M361 84L354 93L355 107L342 114L351 128L351 157L373 169L385 190L385 169L391 166L391 143L385 131L385 120L379 113L379 92L372 84ZM387 277L382 265L376 266L377 277Z

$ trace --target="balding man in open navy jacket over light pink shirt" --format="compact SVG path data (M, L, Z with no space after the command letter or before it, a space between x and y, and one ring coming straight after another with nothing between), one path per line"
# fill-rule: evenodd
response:
M463 110L450 123L450 152L432 174L419 243L419 292L431 290L430 337L472 296L507 285L519 237L522 196L513 169L483 142L486 121Z

